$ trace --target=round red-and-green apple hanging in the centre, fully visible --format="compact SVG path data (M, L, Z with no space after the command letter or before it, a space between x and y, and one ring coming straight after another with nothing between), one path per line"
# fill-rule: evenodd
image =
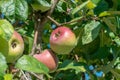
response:
M58 54L69 54L76 45L76 35L66 26L60 26L50 35L50 47Z

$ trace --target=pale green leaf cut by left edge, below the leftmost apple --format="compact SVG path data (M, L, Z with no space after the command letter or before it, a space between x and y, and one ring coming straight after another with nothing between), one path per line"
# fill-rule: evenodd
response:
M7 63L5 57L0 52L0 77L2 77L5 74L5 71L7 69Z

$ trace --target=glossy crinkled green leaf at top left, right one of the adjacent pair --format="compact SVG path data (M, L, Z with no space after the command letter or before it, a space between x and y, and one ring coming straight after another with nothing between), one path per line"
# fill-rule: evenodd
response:
M15 15L20 20L26 20L28 18L28 4L26 0L16 0Z

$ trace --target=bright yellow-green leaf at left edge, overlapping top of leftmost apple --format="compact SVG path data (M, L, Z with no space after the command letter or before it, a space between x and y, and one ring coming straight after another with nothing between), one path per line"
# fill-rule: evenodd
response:
M6 19L0 20L0 37L9 41L13 34L14 28Z

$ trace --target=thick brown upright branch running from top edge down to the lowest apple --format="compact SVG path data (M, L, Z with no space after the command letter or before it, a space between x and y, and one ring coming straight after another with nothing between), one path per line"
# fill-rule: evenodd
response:
M50 16L52 14L52 12L54 11L56 4L58 3L59 0L53 0L51 9L45 14L43 15L43 17L40 16L40 13L36 13L34 14L35 16L35 34L34 34L34 42L33 42L33 48L32 51L30 53L30 55L33 55L34 53L36 53L36 50L38 51L37 53L41 52L41 43L42 43L42 31L43 31L43 27L44 24L47 22L47 17ZM39 21L40 19L40 21Z

